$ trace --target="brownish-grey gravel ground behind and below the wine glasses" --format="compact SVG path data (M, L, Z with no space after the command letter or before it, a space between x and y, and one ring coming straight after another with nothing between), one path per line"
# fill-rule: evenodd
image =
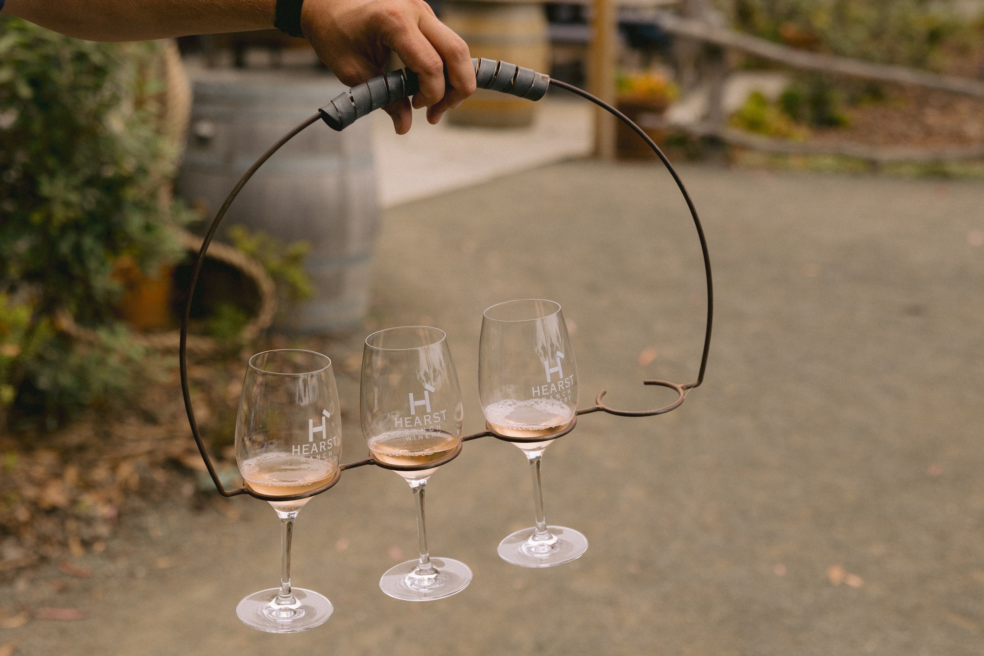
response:
M456 597L379 591L412 554L411 497L365 468L297 527L295 583L337 609L320 628L275 636L236 620L278 565L274 513L239 498L131 523L91 558L92 579L47 593L89 620L34 621L0 643L106 656L980 654L984 186L682 174L717 282L707 382L660 418L584 417L547 451L547 518L584 532L584 558L543 571L497 558L529 523L530 492L520 452L486 438L429 489L432 554L474 570ZM499 300L564 305L584 405L606 387L612 404L653 406L666 397L638 381L696 373L697 242L651 166L557 164L390 210L375 287L363 332L448 331L469 431L482 425L481 311ZM357 368L360 338L307 346ZM356 376L338 381L346 460L365 452ZM161 557L173 566L154 568Z

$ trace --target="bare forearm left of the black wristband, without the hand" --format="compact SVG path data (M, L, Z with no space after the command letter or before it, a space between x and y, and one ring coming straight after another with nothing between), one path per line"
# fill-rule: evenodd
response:
M276 0L7 0L3 13L93 41L274 27Z

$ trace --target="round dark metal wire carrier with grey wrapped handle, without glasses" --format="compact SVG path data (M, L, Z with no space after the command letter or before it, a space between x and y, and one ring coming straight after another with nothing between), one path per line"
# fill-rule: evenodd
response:
M687 188L683 184L683 180L680 179L680 176L677 174L676 170L674 170L672 164L669 163L669 160L666 159L666 156L661 150L659 150L659 147L656 146L655 142L652 141L646 132L630 120L628 116L604 100L595 98L574 85L569 85L566 82L561 82L559 80L551 80L550 76L543 73L537 73L530 68L523 68L522 66L517 66L516 64L510 64L504 61L494 61L492 59L472 59L471 62L475 68L475 80L479 89L491 89L493 91L510 94L519 98L538 100L543 98L547 92L547 89L550 87L558 87L593 102L628 125L636 134L640 136L641 139L646 142L646 145L652 150L653 153L656 154L660 162L663 163L670 175L673 177L673 181L676 183L677 188L683 195L684 201L687 203L687 208L694 220L694 227L697 229L698 238L701 241L701 252L704 256L704 271L707 280L707 324L704 335L704 350L701 355L701 366L698 370L697 380L685 384L673 383L666 380L643 381L646 385L667 387L677 392L677 399L673 403L655 410L626 411L609 408L601 401L602 397L605 395L605 390L601 390L594 400L594 406L579 409L571 424L551 438L560 437L568 432L571 432L574 427L577 426L578 415L604 412L609 415L617 415L620 417L652 417L654 415L662 415L663 413L674 410L684 402L689 390L700 386L700 384L704 381L704 373L707 369L707 355L710 351L710 328L713 321L714 298L713 284L710 276L710 256L707 254L707 239L704 235L704 228L701 225L701 220L697 215L697 208L694 207L694 202L691 200L690 194L687 192ZM266 153L261 155L260 158L253 163L253 165L250 166L245 173L243 173L243 176L239 179L236 185L232 187L229 195L225 198L225 202L222 203L222 206L215 214L215 219L205 234L205 238L202 241L202 247L199 249L198 255L195 257L195 263L192 267L191 284L188 290L188 300L185 304L184 315L181 318L181 341L178 349L178 361L180 364L181 373L181 392L184 396L185 412L188 414L188 424L191 426L192 436L195 438L195 443L198 445L198 450L202 455L202 460L205 461L206 468L209 470L209 476L212 477L212 481L215 484L215 489L222 496L250 494L251 496L255 496L256 498L263 499L265 501L288 501L307 498L309 496L326 492L335 486L341 478L341 473L346 469L354 469L365 465L376 465L377 467L383 467L385 469L400 470L430 469L432 467L443 465L446 462L451 462L461 453L460 444L459 448L454 453L439 462L412 467L388 465L372 458L345 463L338 467L336 476L325 486L322 486L317 490L312 490L311 492L291 494L288 496L270 496L268 494L253 492L246 487L226 490L218 478L218 474L215 471L215 465L212 462L212 458L209 457L209 452L205 447L205 442L202 440L202 435L199 432L198 424L195 421L195 412L191 403L191 390L188 385L188 362L186 357L188 322L191 317L192 298L195 295L195 287L198 284L199 274L202 272L202 264L205 261L205 254L209 250L209 244L212 243L212 239L215 237L215 231L218 230L218 224L222 221L222 218L228 211L232 201L235 200L243 186L245 186L249 179L253 176L253 173L255 173L260 166L267 162L267 160L269 160L285 143L293 139L313 123L316 123L318 119L324 120L325 123L333 130L340 131L374 109L385 107L392 102L396 102L400 98L412 96L416 94L418 90L419 81L416 73L404 68L399 71L394 71L392 73L386 73L375 77L368 82L352 87L348 91L342 92L341 94L338 94L337 97L332 98L328 104L318 110L318 113L312 114L308 118L304 119L290 132L277 140L276 144L271 146ZM497 437L507 441L523 441L523 438L507 437L493 431L491 428L481 432L472 433L470 435L465 435L461 438L461 441L465 442L472 439L478 439L479 437ZM534 439L541 440L542 437L537 437Z

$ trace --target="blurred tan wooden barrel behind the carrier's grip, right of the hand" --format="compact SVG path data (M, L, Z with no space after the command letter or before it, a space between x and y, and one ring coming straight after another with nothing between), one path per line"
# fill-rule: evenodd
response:
M501 59L549 73L550 49L543 6L531 2L447 0L442 20L468 44L472 57ZM522 127L533 121L536 103L479 89L448 112L456 125Z

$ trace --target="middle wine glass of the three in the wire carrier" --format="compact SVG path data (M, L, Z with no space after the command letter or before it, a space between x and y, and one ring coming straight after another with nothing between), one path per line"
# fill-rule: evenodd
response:
M461 389L444 331L402 326L367 337L361 397L362 433L373 459L410 484L417 507L420 558L391 567L379 587L404 601L461 592L471 570L460 560L430 558L424 525L427 480L461 450Z

